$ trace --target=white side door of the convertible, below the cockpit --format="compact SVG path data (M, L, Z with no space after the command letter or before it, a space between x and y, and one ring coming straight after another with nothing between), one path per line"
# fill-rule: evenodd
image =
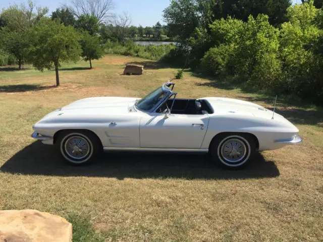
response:
M152 113L140 119L141 148L201 147L208 115Z

